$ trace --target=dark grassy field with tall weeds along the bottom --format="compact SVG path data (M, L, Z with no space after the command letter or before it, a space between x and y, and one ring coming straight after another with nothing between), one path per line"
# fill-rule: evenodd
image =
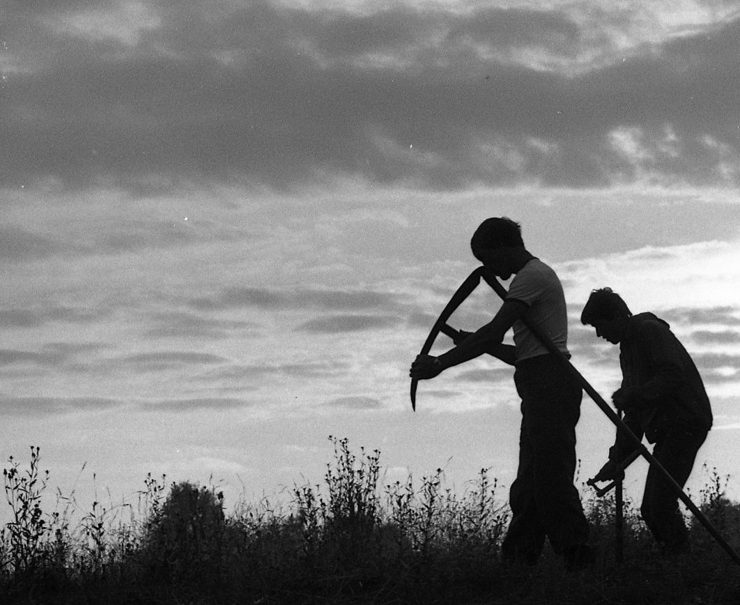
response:
M13 521L0 543L0 602L8 604L740 604L740 566L690 521L692 552L667 560L625 505L625 558L615 561L613 496L583 499L598 554L566 572L549 550L534 567L499 564L506 494L482 469L469 489L442 471L380 484L380 452L334 458L320 485L291 502L240 502L223 512L214 487L148 475L141 504L42 507L48 472L38 448L4 469ZM700 508L736 549L740 507L727 478L707 471ZM501 493L499 493L501 492ZM5 599L2 601L2 599Z

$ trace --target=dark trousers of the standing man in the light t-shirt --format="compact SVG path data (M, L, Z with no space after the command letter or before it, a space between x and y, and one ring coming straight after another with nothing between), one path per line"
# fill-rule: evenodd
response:
M588 540L588 522L573 485L582 390L554 355L517 364L514 382L522 398L522 427L502 555L534 563L547 537L555 552L568 556Z

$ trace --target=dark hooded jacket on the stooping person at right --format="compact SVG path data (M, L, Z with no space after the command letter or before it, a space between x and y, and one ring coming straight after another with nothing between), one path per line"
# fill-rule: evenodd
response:
M712 427L712 410L702 377L670 326L653 313L628 319L619 343L622 390L630 392L625 424L639 438L655 443L668 429L689 435ZM621 461L635 449L617 431L609 458Z

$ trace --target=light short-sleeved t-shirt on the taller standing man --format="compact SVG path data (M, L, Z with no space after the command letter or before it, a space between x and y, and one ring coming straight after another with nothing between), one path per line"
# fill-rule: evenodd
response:
M526 304L529 308L525 318L539 327L559 350L568 355L565 295L560 280L548 265L539 258L533 258L525 264L511 280L506 299L515 299ZM514 322L514 345L517 349L517 361L548 353L521 320Z

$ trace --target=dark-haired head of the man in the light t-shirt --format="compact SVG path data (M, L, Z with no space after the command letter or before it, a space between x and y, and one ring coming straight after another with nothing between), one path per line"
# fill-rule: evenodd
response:
M504 279L515 273L516 254L524 250L522 228L511 218L486 218L470 241L473 255Z

